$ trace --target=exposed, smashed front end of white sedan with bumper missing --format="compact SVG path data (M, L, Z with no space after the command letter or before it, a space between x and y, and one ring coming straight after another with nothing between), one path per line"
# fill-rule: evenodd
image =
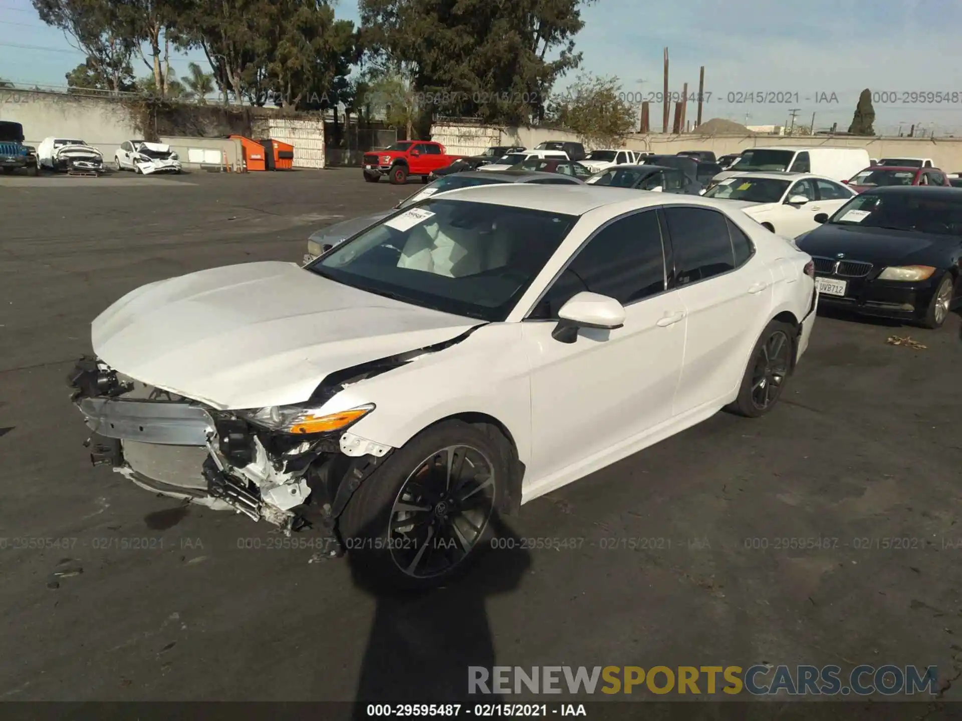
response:
M98 359L78 361L67 382L93 432L87 445L94 465L112 465L167 496L266 520L286 534L309 525L304 513L313 502L311 464L341 453L337 439L279 437L230 412L138 385ZM144 462L151 449L162 460L182 457L196 470L182 468L190 478L171 484L169 463Z

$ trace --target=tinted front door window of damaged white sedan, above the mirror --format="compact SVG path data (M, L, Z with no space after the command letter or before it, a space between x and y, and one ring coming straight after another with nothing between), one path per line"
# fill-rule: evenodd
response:
M621 304L665 289L665 254L655 211L637 212L601 230L544 295L532 318L556 318L571 296L588 290Z

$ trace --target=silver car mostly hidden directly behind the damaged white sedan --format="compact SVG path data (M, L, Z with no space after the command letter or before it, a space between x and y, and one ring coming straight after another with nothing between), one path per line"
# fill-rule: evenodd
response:
M324 253L335 245L342 243L351 236L356 236L361 231L374 225L382 218L386 218L394 211L401 211L409 206L413 206L425 198L436 193L448 190L457 190L459 187L470 186L490 186L498 183L538 183L542 185L564 185L564 186L583 186L584 182L569 175L560 173L542 173L532 170L498 170L488 173L453 173L439 178L434 183L422 187L418 192L409 195L390 211L371 212L350 220L342 220L340 223L321 228L311 234L307 240L307 253L304 254L304 262L313 261L321 253Z

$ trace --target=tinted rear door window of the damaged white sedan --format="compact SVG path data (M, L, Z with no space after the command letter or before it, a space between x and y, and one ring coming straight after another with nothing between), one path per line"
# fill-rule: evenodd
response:
M728 221L705 208L666 208L675 278L679 286L725 273L735 267Z

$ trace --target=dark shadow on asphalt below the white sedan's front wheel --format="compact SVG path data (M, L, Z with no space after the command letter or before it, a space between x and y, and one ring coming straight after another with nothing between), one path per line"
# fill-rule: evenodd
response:
M492 540L475 549L478 558L468 562L465 573L429 591L379 590L348 553L354 583L377 604L353 718L368 718L371 703L465 705L479 699L468 694L468 667L490 672L494 666L487 599L515 590L531 565L518 536L498 517L492 518L485 538Z

